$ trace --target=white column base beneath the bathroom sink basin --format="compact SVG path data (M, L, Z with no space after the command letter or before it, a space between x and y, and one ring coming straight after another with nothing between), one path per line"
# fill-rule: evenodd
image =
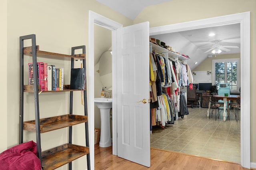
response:
M100 122L100 147L111 146L110 109L100 109Z

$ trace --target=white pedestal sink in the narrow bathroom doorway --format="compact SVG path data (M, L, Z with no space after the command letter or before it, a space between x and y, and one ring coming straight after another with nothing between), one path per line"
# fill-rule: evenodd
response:
M94 98L94 103L100 109L100 147L111 146L110 109L112 108L112 99Z

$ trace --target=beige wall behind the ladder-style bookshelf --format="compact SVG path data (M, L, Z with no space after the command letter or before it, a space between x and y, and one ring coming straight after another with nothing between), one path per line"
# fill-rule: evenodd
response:
M19 125L19 37L36 34L36 44L40 45L42 51L51 51L56 53L71 54L71 47L78 45L86 45L86 51L90 45L88 44L88 11L92 10L98 14L106 16L124 26L132 25L133 21L118 14L114 10L100 4L96 0L44 0L44 1L17 1L6 0L5 16L7 14L7 54L4 55L8 65L4 70L7 79L8 89L3 87L1 96L7 111L3 110L6 123L1 124L7 126L6 132L3 134L4 140L0 141L2 152L7 147L18 144L18 125ZM2 6L1 6L2 8ZM2 10L1 10L2 12ZM2 26L1 26L2 27ZM1 32L2 33L2 32ZM4 33L6 35L6 32ZM25 41L25 45L31 45L30 41ZM3 53L2 53L3 54ZM88 56L88 55L87 55ZM69 61L38 59L38 61L55 64L58 67L65 67L65 73L68 74L70 68ZM3 60L2 60L3 61ZM25 82L27 82L26 63L31 62L32 57L26 57L24 61ZM80 61L76 61L75 65L79 67ZM65 77L64 81L69 84L69 77ZM90 80L88 80L90 81ZM6 82L6 81L5 81ZM2 87L2 86L1 86ZM90 89L88 89L90 90ZM6 93L6 95L4 94ZM6 97L7 96L7 97ZM32 93L24 93L24 121L34 119L34 102ZM40 118L51 117L52 115L62 115L69 112L69 93L41 93L40 101ZM74 109L73 113L82 115L83 106L79 92L74 93ZM6 128L2 128L6 129ZM84 145L84 125L74 126L73 142ZM41 134L42 150L58 146L64 142L68 142L67 128L55 130ZM7 133L7 134L5 134ZM2 138L3 139L3 138ZM34 140L34 132L24 132L24 142ZM74 169L84 169L86 166L86 156L74 161ZM66 166L62 167L66 169ZM60 168L60 169L62 169Z

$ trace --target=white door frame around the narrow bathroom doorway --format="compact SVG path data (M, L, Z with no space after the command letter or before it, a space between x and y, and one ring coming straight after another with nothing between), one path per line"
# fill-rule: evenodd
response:
M88 125L89 125L89 143L90 146L94 146L94 24L112 30L112 142L113 142L113 154L117 155L117 141L116 141L116 107L115 107L115 95L116 95L116 30L122 28L122 24L119 24L113 20L110 20L104 16L101 16L95 12L89 11L89 55L88 59L88 74L87 74L87 94L88 94ZM94 147L90 147L90 164L91 169L94 169Z

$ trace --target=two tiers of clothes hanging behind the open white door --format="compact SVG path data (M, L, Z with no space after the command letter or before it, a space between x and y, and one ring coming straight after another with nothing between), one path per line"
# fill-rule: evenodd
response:
M180 88L190 85L190 67L181 61L150 53L150 118L151 125L174 124L176 117L188 115L185 93Z

